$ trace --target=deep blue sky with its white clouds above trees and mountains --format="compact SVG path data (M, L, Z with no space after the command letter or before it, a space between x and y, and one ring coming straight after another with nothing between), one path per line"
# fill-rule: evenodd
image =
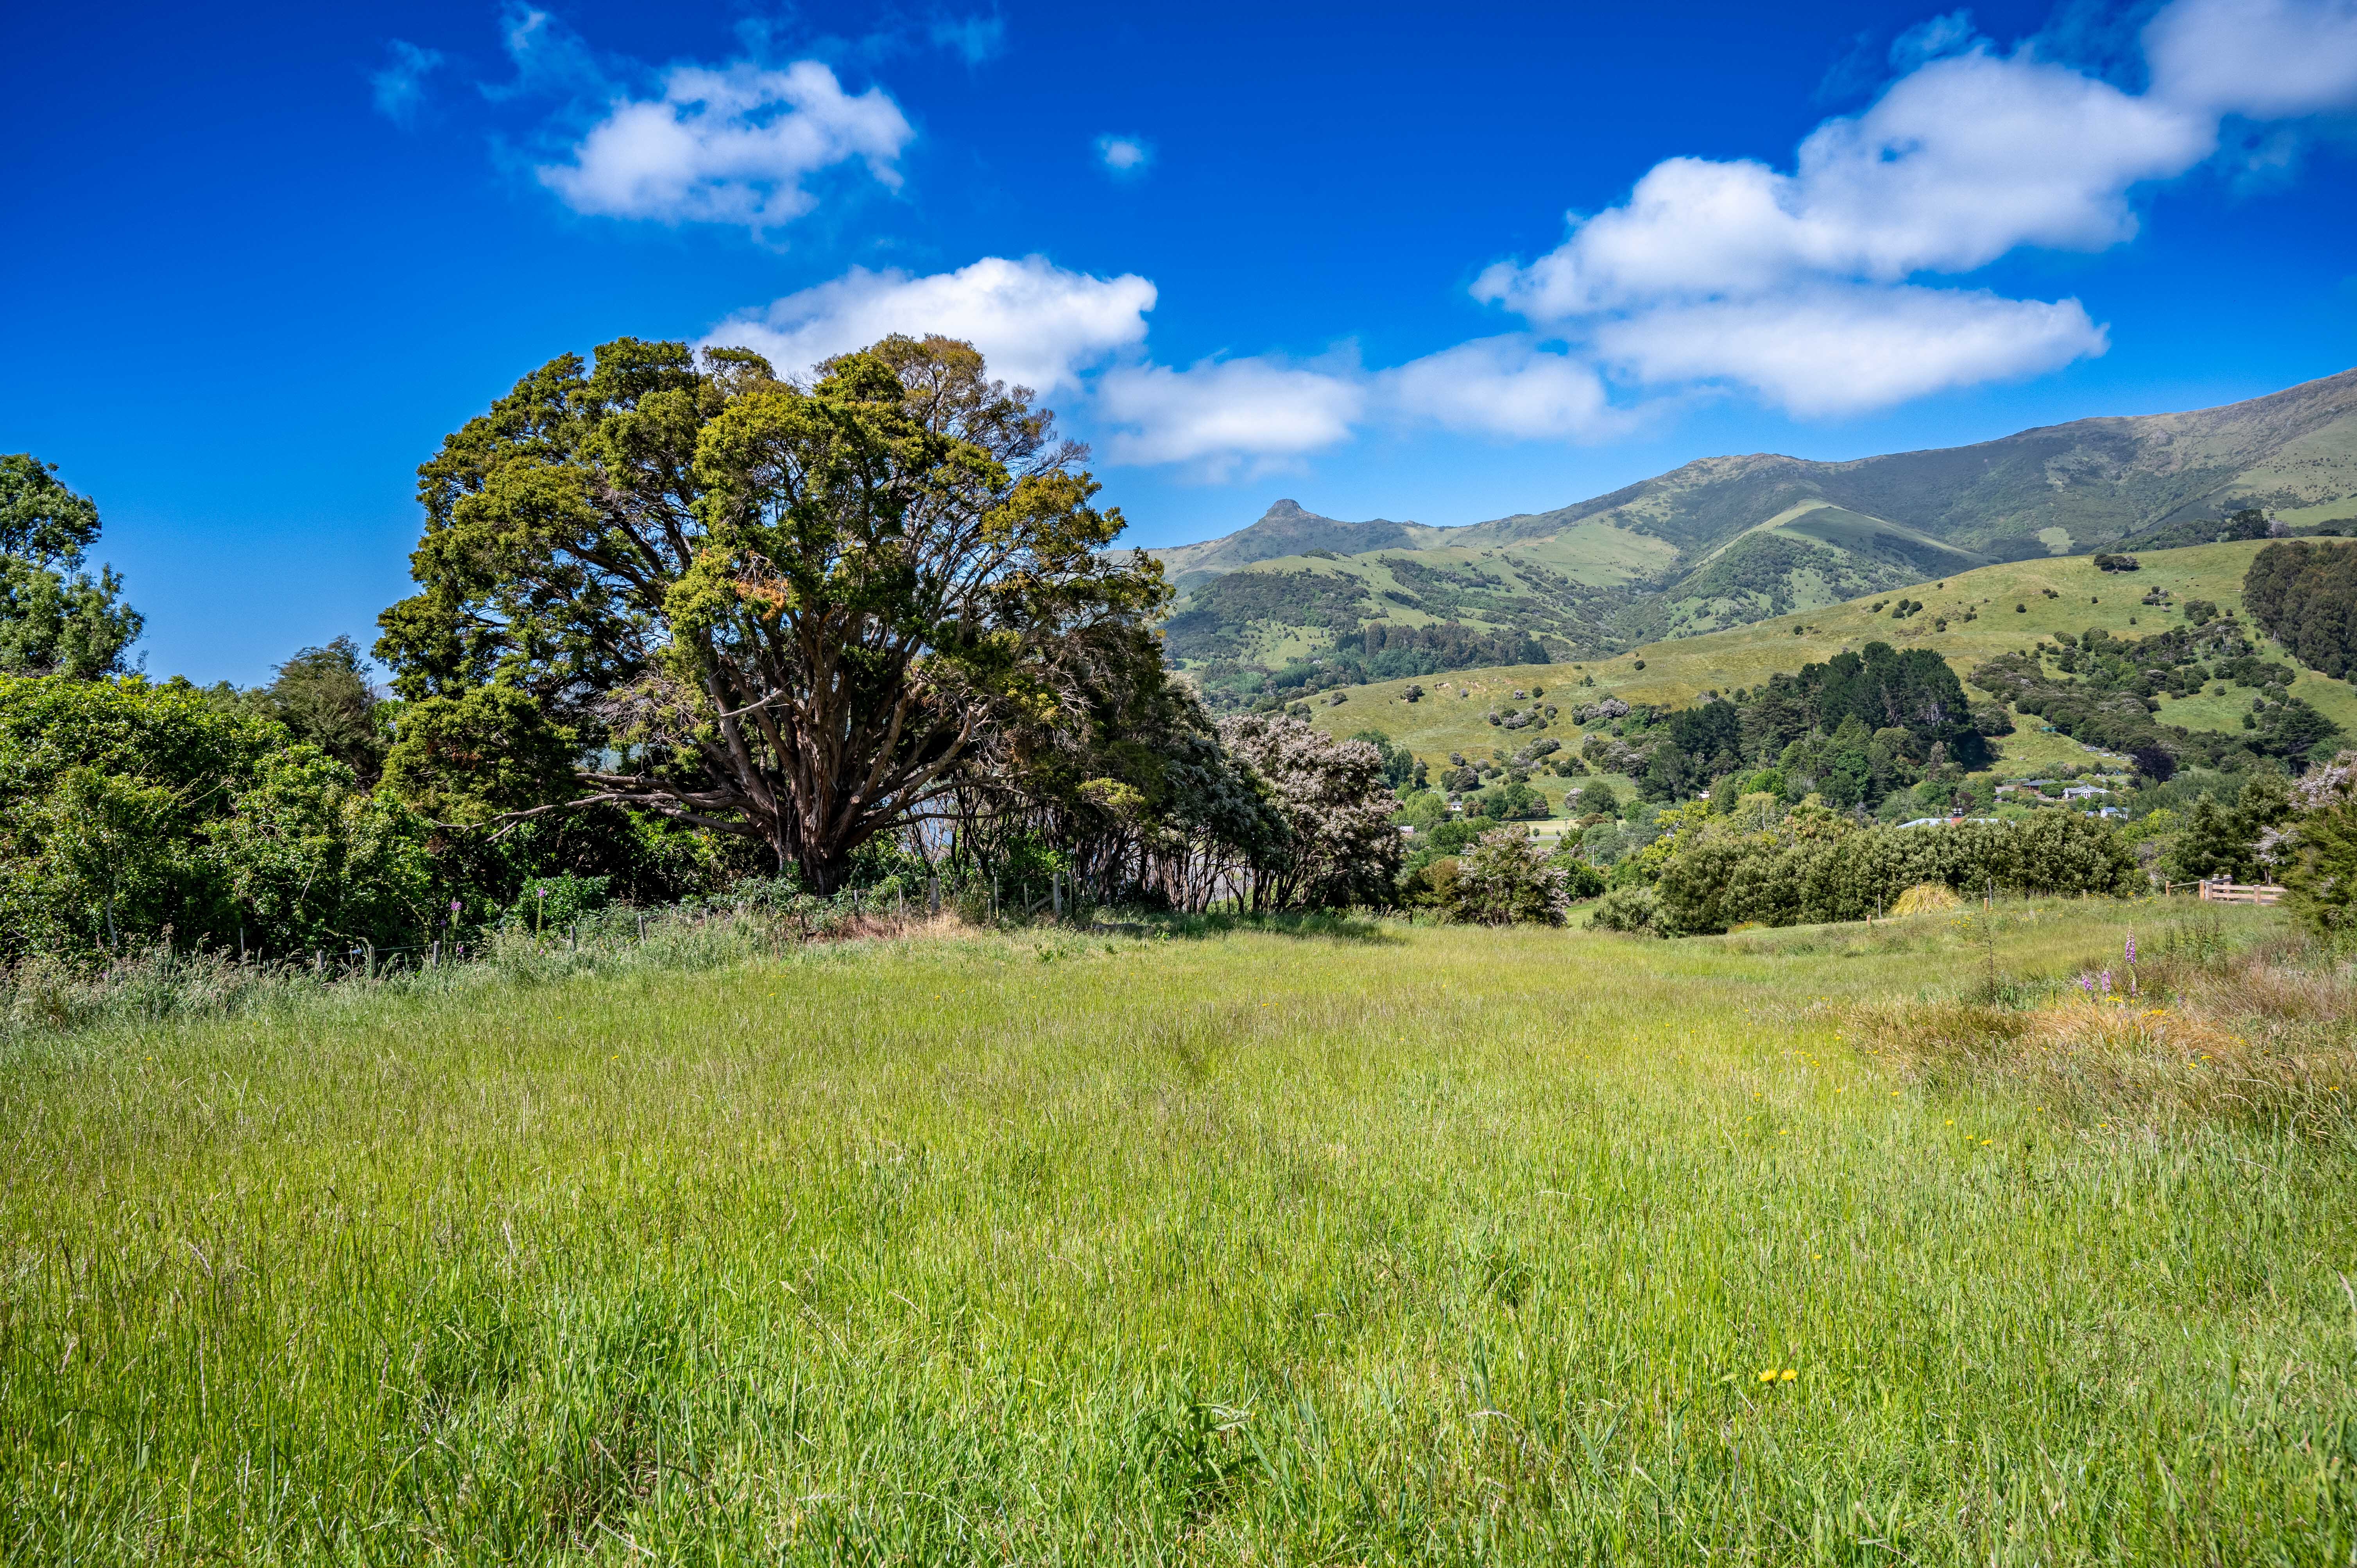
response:
M370 641L417 462L618 335L971 335L1143 545L1468 523L2350 368L2352 111L2352 0L45 7L0 450L240 684Z

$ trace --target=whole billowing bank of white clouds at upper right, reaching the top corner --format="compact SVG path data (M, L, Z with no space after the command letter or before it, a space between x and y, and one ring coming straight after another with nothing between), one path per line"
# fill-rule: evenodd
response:
M2133 191L2218 151L2220 116L2357 101L2357 0L2173 0L2145 31L2152 85L2126 92L2036 47L1935 17L1907 68L1827 120L1791 170L1669 158L1629 200L1574 217L1475 297L1662 384L1730 380L1794 413L1853 413L2100 354L2077 299L2001 299L1928 278L2022 248L2135 236Z

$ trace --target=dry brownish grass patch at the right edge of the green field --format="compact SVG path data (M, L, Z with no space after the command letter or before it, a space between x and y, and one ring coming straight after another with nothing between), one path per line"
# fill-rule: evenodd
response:
M2319 953L2168 957L2060 981L2029 1007L1869 1004L1857 1023L1860 1042L1904 1073L1952 1087L2013 1080L2053 1111L2357 1134L2357 981Z

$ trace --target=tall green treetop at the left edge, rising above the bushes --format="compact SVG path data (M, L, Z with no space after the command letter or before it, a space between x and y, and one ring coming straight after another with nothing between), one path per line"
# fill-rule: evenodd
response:
M97 679L125 672L146 625L123 580L82 571L99 509L28 453L0 455L0 674Z

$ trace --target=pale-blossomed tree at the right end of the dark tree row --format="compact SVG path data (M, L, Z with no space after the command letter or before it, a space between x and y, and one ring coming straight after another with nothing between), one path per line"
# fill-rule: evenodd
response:
M1268 788L1285 832L1252 846L1252 908L1381 903L1400 870L1398 806L1384 757L1365 740L1334 740L1299 719L1237 717L1221 745Z

